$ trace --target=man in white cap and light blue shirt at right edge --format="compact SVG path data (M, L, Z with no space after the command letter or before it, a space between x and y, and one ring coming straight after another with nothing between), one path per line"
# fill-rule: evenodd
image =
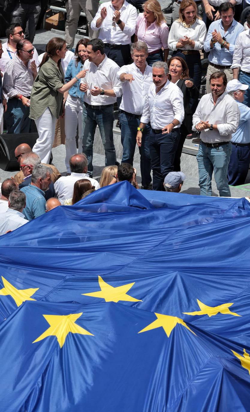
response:
M250 108L243 104L247 84L237 79L227 83L227 93L236 101L240 110L238 129L232 134L232 153L227 169L228 183L231 186L243 185L248 174L250 164Z

